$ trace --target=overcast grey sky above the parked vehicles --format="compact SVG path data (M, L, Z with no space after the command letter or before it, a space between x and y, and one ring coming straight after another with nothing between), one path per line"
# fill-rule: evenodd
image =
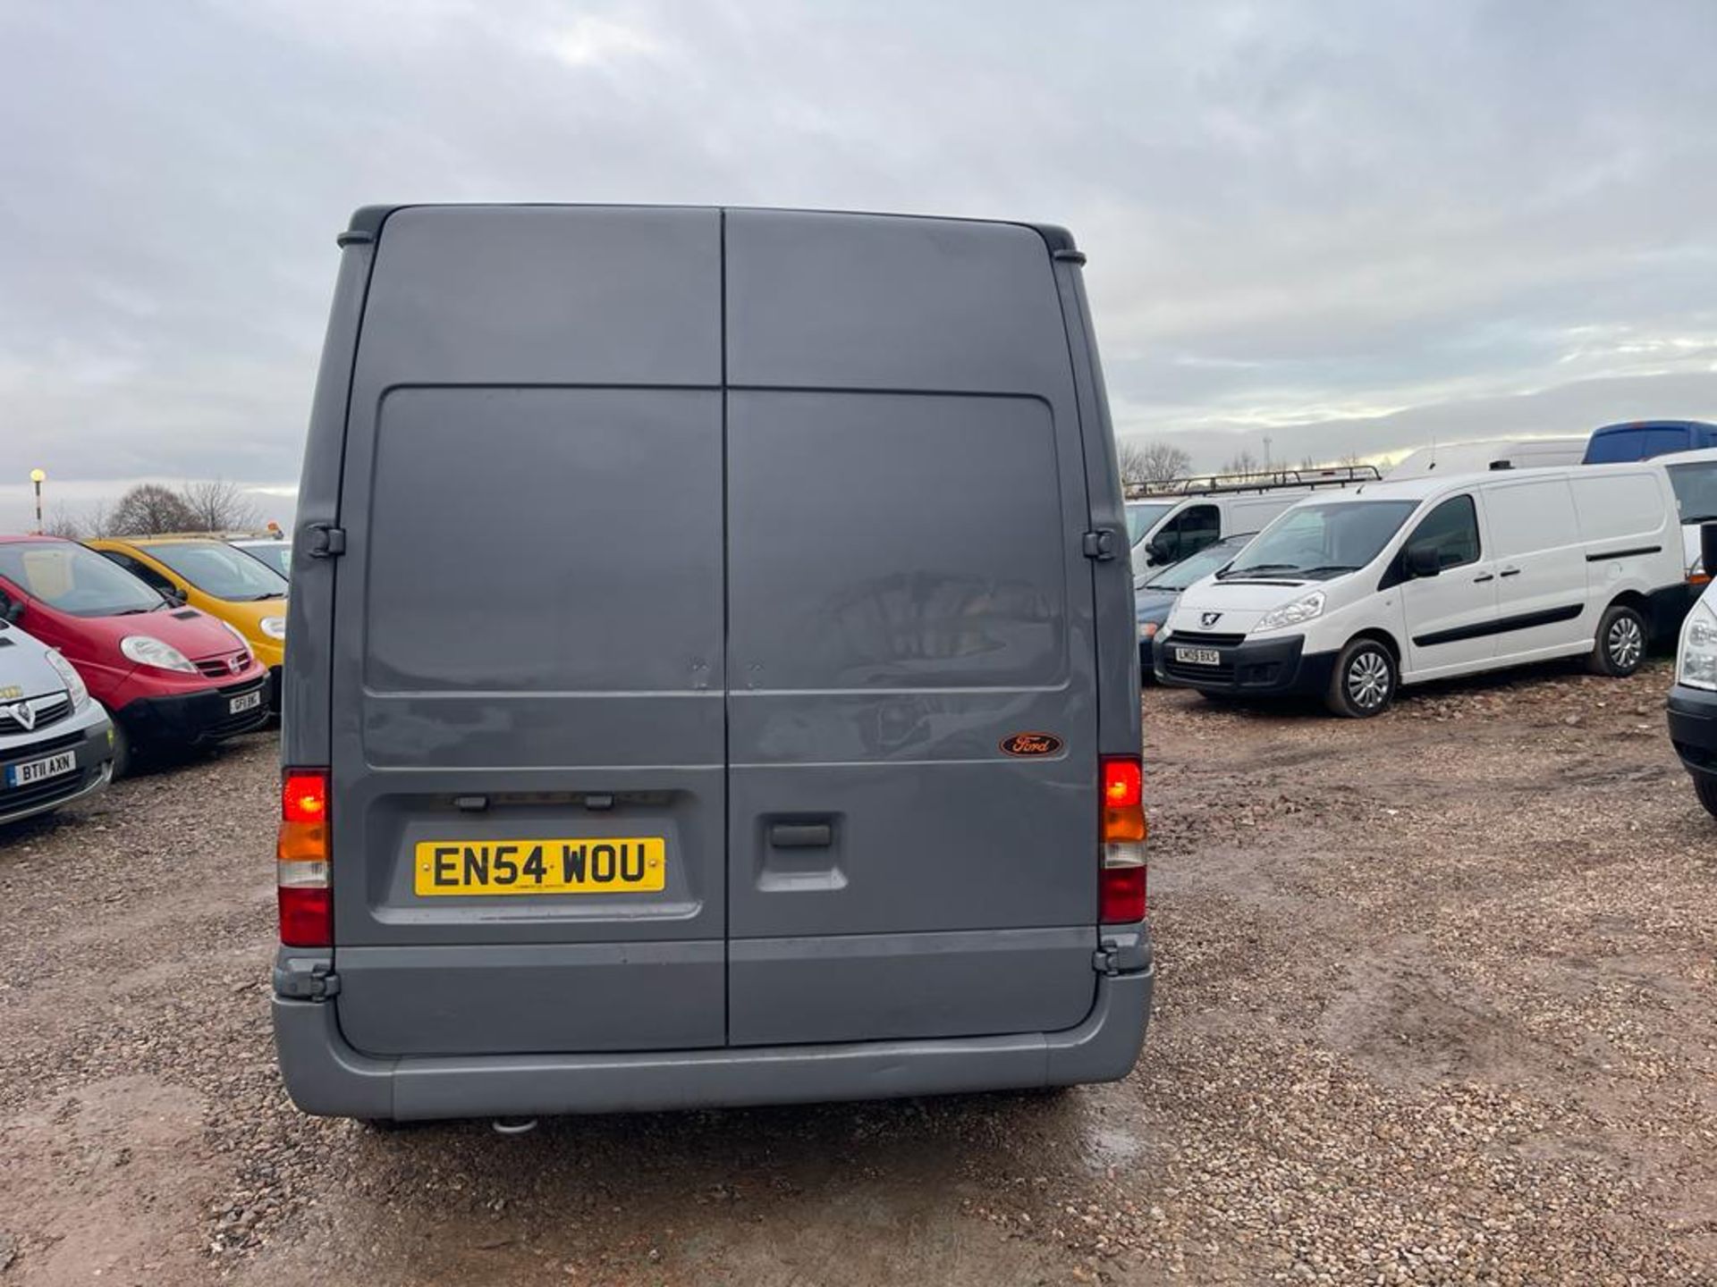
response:
M290 515L388 201L1044 220L1121 434L1217 467L1717 419L1717 3L0 0L0 530Z

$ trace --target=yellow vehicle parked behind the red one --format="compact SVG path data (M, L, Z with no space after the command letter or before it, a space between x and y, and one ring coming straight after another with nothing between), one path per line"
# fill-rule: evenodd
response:
M280 707L280 662L287 652L287 578L215 535L101 537L84 542L148 582L225 621L268 668Z

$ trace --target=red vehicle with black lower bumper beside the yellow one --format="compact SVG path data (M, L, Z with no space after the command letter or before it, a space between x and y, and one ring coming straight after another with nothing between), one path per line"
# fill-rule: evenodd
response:
M199 746L268 719L268 669L227 623L93 549L0 535L0 616L58 649L113 716L113 774L134 750Z

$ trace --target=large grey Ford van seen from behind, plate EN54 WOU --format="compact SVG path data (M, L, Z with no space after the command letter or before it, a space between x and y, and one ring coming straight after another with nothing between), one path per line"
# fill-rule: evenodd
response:
M1138 657L1071 239L405 206L340 245L292 547L294 1100L1125 1076Z

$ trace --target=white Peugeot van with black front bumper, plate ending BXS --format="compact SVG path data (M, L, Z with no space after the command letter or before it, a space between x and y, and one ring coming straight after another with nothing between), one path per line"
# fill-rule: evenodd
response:
M1377 482L1301 501L1190 587L1154 661L1164 683L1367 717L1403 683L1550 657L1631 674L1686 606L1657 463Z

